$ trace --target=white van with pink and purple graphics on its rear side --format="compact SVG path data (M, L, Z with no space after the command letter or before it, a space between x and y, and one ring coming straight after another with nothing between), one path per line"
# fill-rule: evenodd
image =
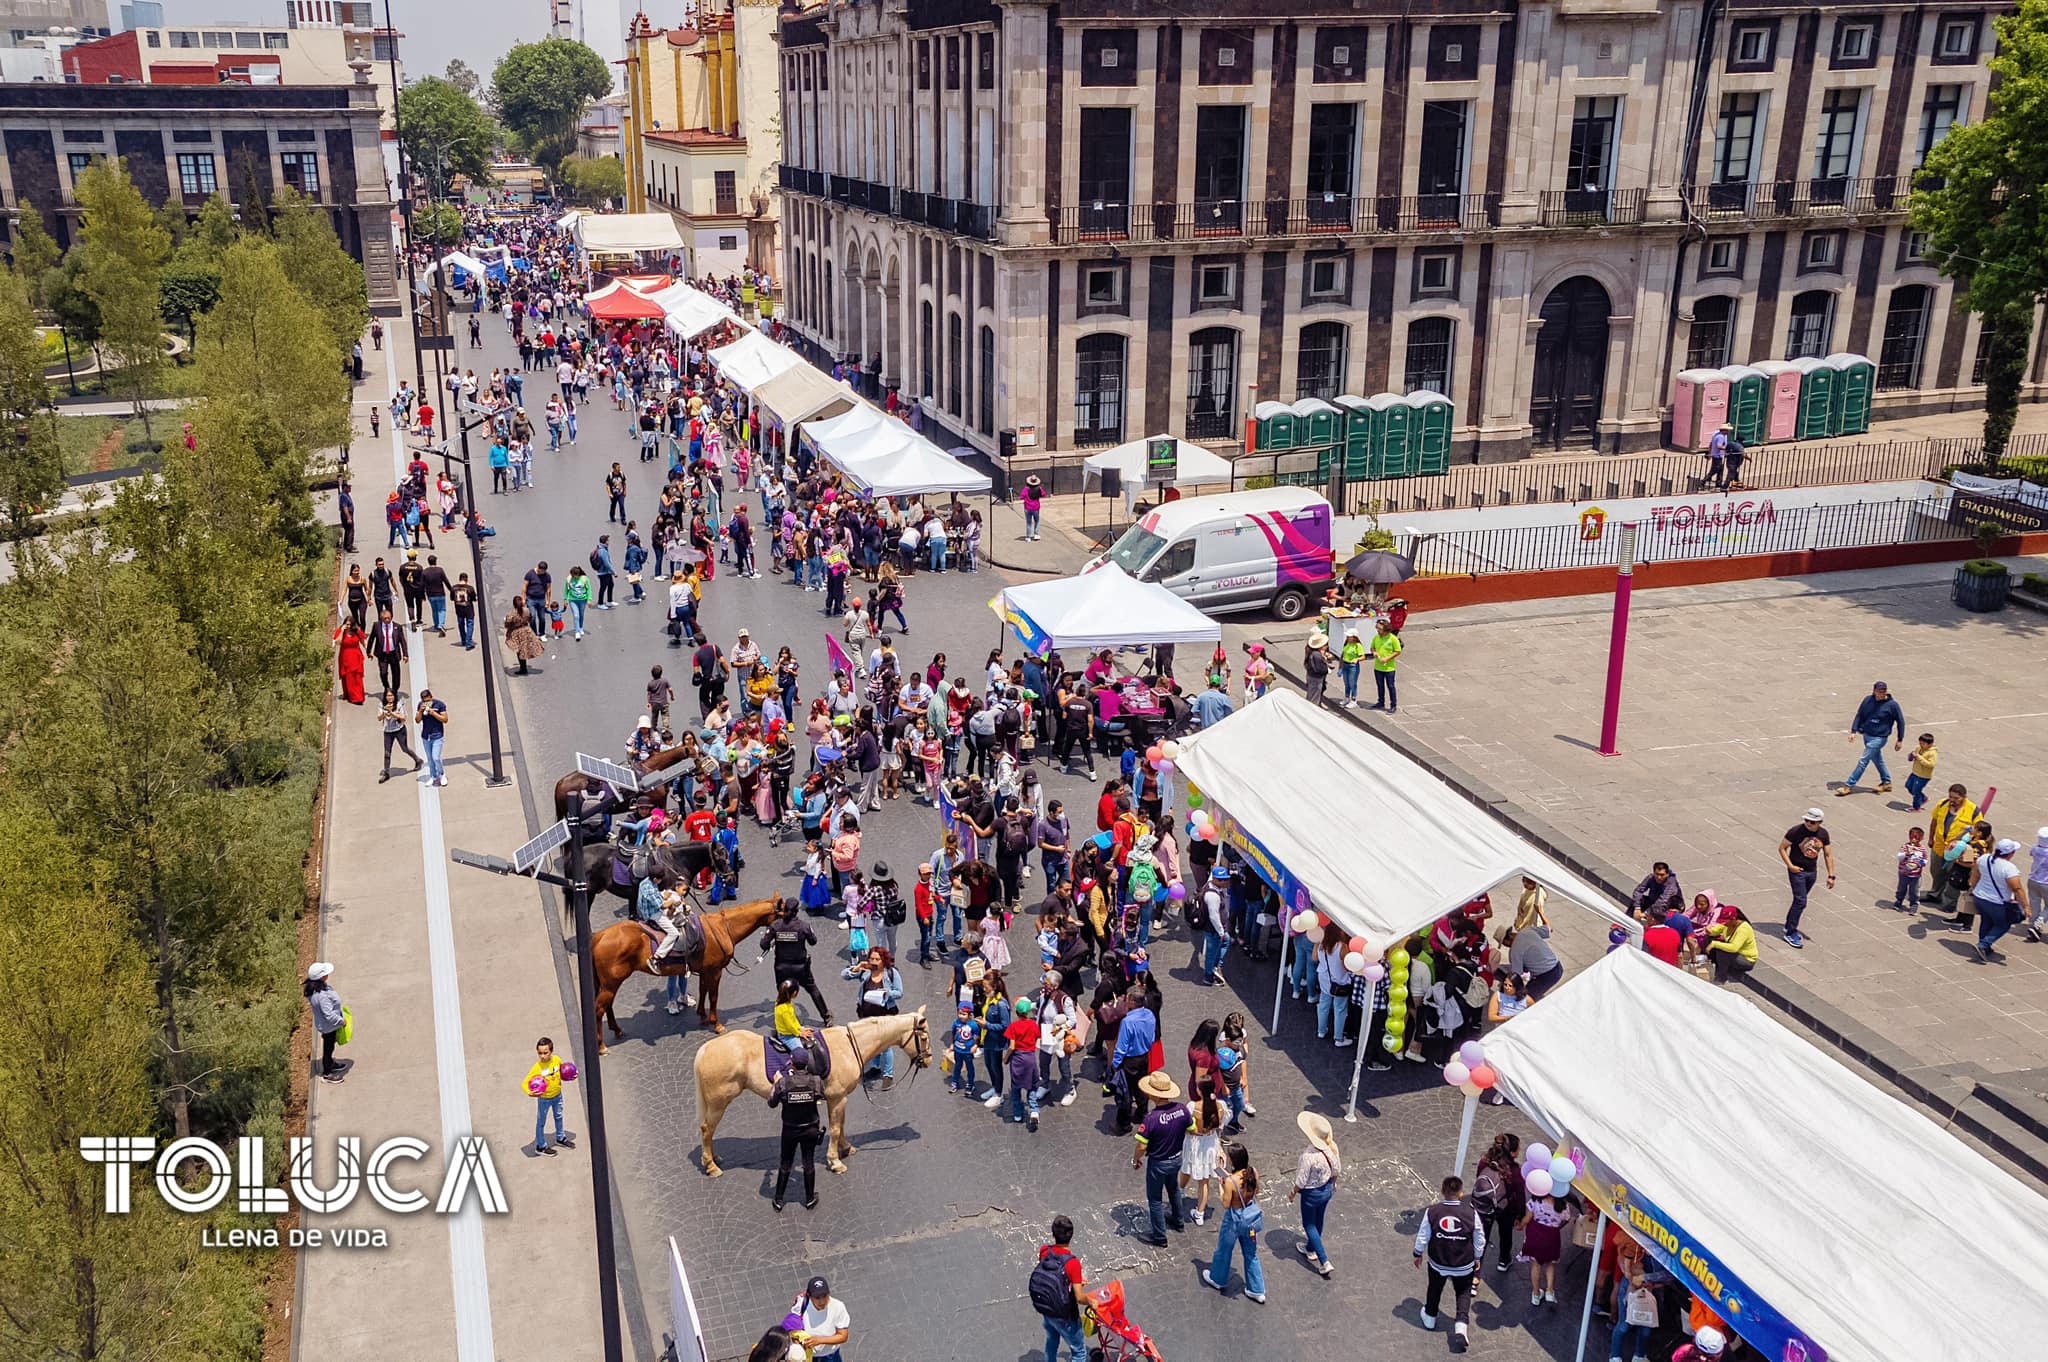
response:
M1196 496L1147 512L1104 561L1208 614L1272 608L1296 621L1335 580L1329 502L1305 487Z

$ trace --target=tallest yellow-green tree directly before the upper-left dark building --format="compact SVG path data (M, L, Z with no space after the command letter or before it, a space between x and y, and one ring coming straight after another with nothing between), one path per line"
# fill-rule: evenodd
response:
M127 178L121 162L96 160L74 188L80 221L80 287L100 309L100 342L117 385L150 432L145 399L164 371L164 307L158 274L170 254L170 233Z

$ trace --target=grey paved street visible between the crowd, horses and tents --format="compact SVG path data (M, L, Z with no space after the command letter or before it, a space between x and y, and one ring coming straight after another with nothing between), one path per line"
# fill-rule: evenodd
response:
M487 375L506 363L504 328L485 328L481 354L459 352L465 367ZM528 383L528 408L545 399L539 377ZM485 496L485 516L500 535L489 541L492 614L506 604L524 569L545 557L557 576L584 561L604 530L602 473L623 457L633 479L635 514L643 514L655 485L625 438L625 418L598 401L586 414L582 442L559 455L537 453L539 490ZM616 537L614 547L623 543ZM999 557L1028 557L1024 545L993 545ZM1047 557L1053 541L1032 545ZM1036 561L1036 557L1032 557ZM1001 582L975 576L915 576L909 582L911 633L905 655L926 662L934 649L948 653L950 670L973 672L989 647L1004 643L985 602ZM786 578L764 573L758 582L721 576L705 590L705 627L731 647L739 625L752 627L762 647L791 643L805 668L805 696L829 674L823 649L827 621L819 596L797 592ZM584 643L555 641L532 676L510 678L504 690L516 723L518 760L528 780L530 805L545 803L553 776L571 770L575 752L616 756L643 709L647 668L664 664L672 676L688 672L688 653L670 649L659 606L621 606L592 612ZM678 707L680 709L680 707ZM1092 789L1053 780L1053 797L1092 809ZM530 809L532 813L532 809ZM541 817L547 817L543 811ZM1085 813L1079 821L1085 821ZM504 848L524 836L508 827ZM887 858L907 879L938 842L932 811L907 799L887 807L866 825L864 860ZM500 848L500 850L504 850ZM795 893L795 848L770 848L745 832L750 866L743 893ZM1040 893L1036 885L1026 897ZM600 922L602 922L600 909ZM549 918L551 928L559 924ZM825 922L825 948L838 946ZM1028 920L1010 936L1012 952L1028 954ZM844 950L842 950L844 959ZM1253 1049L1253 1100L1262 1116L1247 1124L1257 1165L1282 1188L1268 1198L1270 1241L1266 1264L1270 1303L1262 1309L1206 1292L1196 1260L1214 1245L1214 1231L1190 1229L1169 1249L1147 1249L1130 1233L1143 1219L1143 1182L1130 1172L1128 1141L1112 1139L1100 1086L1083 1088L1071 1108L1053 1108L1038 1135L999 1122L991 1112L944 1090L936 1073L915 1083L899 1081L872 1102L854 1098L848 1133L858 1153L844 1178L823 1176L823 1204L782 1217L768 1208L774 1172L776 1116L758 1100L731 1108L719 1133L725 1176L696 1172L696 1096L692 1055L702 1040L694 1018L670 1018L659 1008L662 989L647 977L629 981L618 997L618 1018L629 1038L612 1047L606 1096L612 1112L614 1165L631 1251L641 1280L641 1309L659 1335L668 1321L666 1237L684 1245L713 1358L743 1352L762 1327L774 1323L809 1272L834 1280L854 1313L850 1358L1022 1358L1042 1346L1038 1321L1024 1299L1024 1280L1047 1221L1065 1210L1079 1227L1075 1247L1092 1276L1122 1276L1133 1317L1153 1331L1169 1358L1231 1358L1272 1352L1276 1342L1366 1344L1374 1352L1436 1356L1442 1339L1425 1344L1415 1327L1421 1278L1409 1268L1407 1237L1413 1212L1444 1172L1456 1147L1456 1098L1434 1071L1403 1065L1399 1073L1366 1073L1360 1116L1339 1124L1348 1169L1331 1210L1329 1243L1335 1280L1323 1282L1296 1255L1298 1229L1284 1200L1286 1169L1300 1137L1292 1114L1305 1104L1337 1114L1350 1077L1352 1051L1315 1047L1311 1020L1290 1004L1282 1036L1266 1038L1272 965L1231 956L1231 987L1204 989L1188 965L1186 932L1159 948L1167 965L1165 1038L1180 1055L1194 1022L1243 1010L1260 1040ZM766 1030L768 969L752 950L752 967L729 975L723 1012L729 1026ZM819 969L823 975L825 971ZM944 1006L946 977L915 965L907 971L915 1002ZM821 979L827 995L844 997L846 983ZM844 989L844 991L842 991ZM940 1014L944 1016L944 1014ZM688 1026L684 1022L690 1022ZM1180 1061L1171 1065L1176 1071ZM1483 1120L1491 1133L1511 1120ZM1511 1278L1520 1284L1524 1278ZM1573 1307L1540 1311L1528 1327L1526 1296L1507 1290L1499 1305L1489 1282L1481 1292L1479 1337L1489 1356L1569 1356L1577 1313ZM1569 1299L1569 1296L1567 1296ZM1571 1319L1565 1319L1569 1315ZM971 1331L975 1344L963 1344Z

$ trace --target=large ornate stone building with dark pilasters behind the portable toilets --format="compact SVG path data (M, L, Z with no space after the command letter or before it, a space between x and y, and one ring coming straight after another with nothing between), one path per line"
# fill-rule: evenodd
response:
M1688 367L1841 350L1880 420L1968 408L1905 205L1997 12L827 0L780 27L784 315L1026 463L1423 387L1462 457L1620 453Z

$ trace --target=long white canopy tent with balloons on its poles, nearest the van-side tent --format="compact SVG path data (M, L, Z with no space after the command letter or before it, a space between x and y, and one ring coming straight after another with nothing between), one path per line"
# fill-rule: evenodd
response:
M1436 772L1290 690L1180 739L1180 772L1210 801L1223 840L1280 891L1380 946L1528 875L1550 893L1640 934L1628 913L1507 829ZM1362 838L1370 836L1370 846ZM1294 940L1294 938L1288 938ZM1282 979L1286 952L1280 952ZM1274 991L1274 1026L1280 997ZM1352 1063L1350 1120L1366 1047Z

